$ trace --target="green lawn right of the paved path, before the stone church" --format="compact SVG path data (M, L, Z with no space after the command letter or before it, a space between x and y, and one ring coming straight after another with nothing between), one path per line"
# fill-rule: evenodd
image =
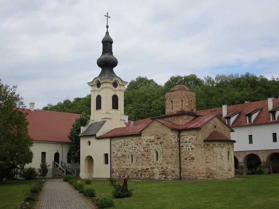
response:
M240 176L219 181L132 181L129 198L114 208L279 208L279 175ZM121 183L122 181L117 181ZM92 180L98 196L111 197L108 180Z

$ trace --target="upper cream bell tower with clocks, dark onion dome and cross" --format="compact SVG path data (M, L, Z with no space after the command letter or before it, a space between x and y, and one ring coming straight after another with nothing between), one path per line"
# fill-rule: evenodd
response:
M91 86L91 123L106 120L105 125L113 128L125 126L124 115L124 86L128 82L122 81L113 68L117 66L117 59L113 56L113 40L107 31L102 40L102 55L97 59L97 65L101 68L98 77L89 82ZM109 128L108 127L108 128Z

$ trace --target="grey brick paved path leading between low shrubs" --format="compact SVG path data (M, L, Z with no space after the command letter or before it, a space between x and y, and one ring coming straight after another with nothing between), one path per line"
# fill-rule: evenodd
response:
M39 208L62 209L62 208L88 208L91 207L62 179L51 179L45 183Z

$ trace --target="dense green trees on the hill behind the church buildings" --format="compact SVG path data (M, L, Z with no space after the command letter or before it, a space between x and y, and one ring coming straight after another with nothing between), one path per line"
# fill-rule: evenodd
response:
M171 76L164 85L157 84L153 79L137 77L131 80L124 91L124 113L129 120L141 120L165 114L164 93L175 85L187 86L196 91L197 110L221 107L223 104L234 105L245 101L260 101L268 97L279 97L279 78L268 79L252 73L217 75L215 78L206 76L203 79L195 74ZM91 95L77 97L47 104L43 110L91 114Z

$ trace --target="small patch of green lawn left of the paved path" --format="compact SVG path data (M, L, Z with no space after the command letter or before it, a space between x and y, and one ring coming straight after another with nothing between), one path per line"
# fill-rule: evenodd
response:
M16 208L37 180L0 181L0 208Z

